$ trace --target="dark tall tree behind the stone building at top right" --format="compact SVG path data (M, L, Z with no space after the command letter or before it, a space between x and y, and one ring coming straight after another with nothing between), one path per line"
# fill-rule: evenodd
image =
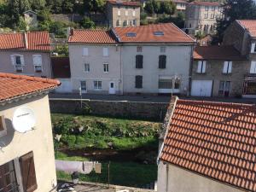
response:
M224 31L234 20L256 19L256 5L253 0L226 0L222 9L223 17L217 20L217 35L213 37L213 44L223 41Z

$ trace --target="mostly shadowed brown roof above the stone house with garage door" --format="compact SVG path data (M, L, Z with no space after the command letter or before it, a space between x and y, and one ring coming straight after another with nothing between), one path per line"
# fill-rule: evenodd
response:
M193 54L195 60L246 60L233 46L196 46Z

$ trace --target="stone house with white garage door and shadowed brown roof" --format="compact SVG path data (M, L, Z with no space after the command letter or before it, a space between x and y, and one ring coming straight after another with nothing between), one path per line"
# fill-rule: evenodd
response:
M243 95L250 61L232 46L198 46L194 50L191 96Z

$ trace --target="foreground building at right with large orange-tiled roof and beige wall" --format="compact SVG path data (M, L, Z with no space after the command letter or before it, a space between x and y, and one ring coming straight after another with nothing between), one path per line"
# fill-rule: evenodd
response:
M160 136L157 191L256 191L255 125L255 105L172 98Z

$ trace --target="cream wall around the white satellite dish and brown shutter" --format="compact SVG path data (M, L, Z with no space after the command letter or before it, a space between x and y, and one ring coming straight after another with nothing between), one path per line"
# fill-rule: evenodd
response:
M35 130L19 133L13 129L11 119L15 109L20 107L31 108L35 113ZM37 96L22 102L13 102L1 106L1 115L4 115L5 118L7 136L0 137L1 147L3 147L0 150L0 165L10 160L15 160L19 165L20 156L32 151L38 183L38 189L35 192L52 190L56 184L56 175L48 96ZM19 183L21 177L18 170L16 170L16 175Z

